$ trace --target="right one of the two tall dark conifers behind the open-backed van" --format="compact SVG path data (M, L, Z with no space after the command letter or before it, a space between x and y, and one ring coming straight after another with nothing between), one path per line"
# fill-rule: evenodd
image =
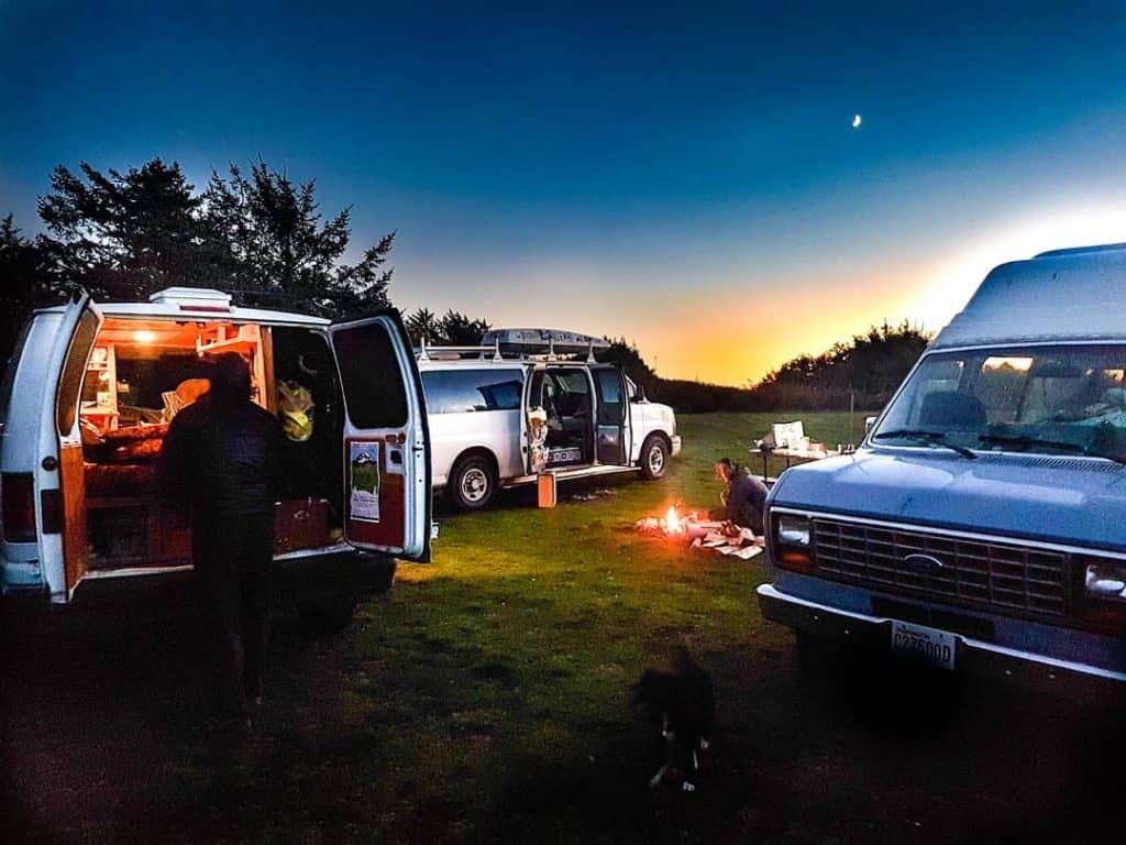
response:
M227 178L213 171L202 222L209 252L231 268L236 288L333 317L388 304L392 269L384 265L395 233L358 263L341 263L351 239L351 206L323 221L313 180L295 184L265 162L252 164L249 178L235 164Z

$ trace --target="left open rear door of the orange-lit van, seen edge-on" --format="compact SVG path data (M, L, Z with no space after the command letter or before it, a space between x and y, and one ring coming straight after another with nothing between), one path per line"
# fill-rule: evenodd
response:
M89 550L86 528L86 470L82 462L80 407L82 384L101 328L101 313L82 293L71 301L59 326L47 366L41 418L38 490L39 552L53 602L69 602L86 577Z

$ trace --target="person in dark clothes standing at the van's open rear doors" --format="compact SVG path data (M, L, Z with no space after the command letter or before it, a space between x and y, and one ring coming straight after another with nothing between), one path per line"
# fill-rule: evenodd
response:
M261 704L280 453L280 424L251 400L238 353L215 357L211 390L176 415L161 448L161 489L191 507L191 557L215 628L227 723L249 726L251 704Z

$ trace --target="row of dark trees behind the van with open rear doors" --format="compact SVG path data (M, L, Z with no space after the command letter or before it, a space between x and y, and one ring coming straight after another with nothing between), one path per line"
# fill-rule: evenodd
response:
M266 162L213 170L197 190L179 163L78 171L60 164L39 197L43 232L0 221L0 353L32 310L77 288L96 300L144 301L166 287L214 287L236 304L349 317L391 304L395 232L346 261L351 207L325 216L315 181ZM408 315L412 338L479 343L483 320L456 311Z

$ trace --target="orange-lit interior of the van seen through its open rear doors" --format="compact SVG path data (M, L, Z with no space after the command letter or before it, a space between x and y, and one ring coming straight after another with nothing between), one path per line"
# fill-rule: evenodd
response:
M168 426L209 389L208 356L242 354L253 400L286 436L277 551L340 537L341 402L324 337L304 328L107 318L82 385L80 426L91 569L163 567L191 559L190 516L164 501L157 466ZM279 390L302 397L279 408ZM298 425L300 421L300 425Z

